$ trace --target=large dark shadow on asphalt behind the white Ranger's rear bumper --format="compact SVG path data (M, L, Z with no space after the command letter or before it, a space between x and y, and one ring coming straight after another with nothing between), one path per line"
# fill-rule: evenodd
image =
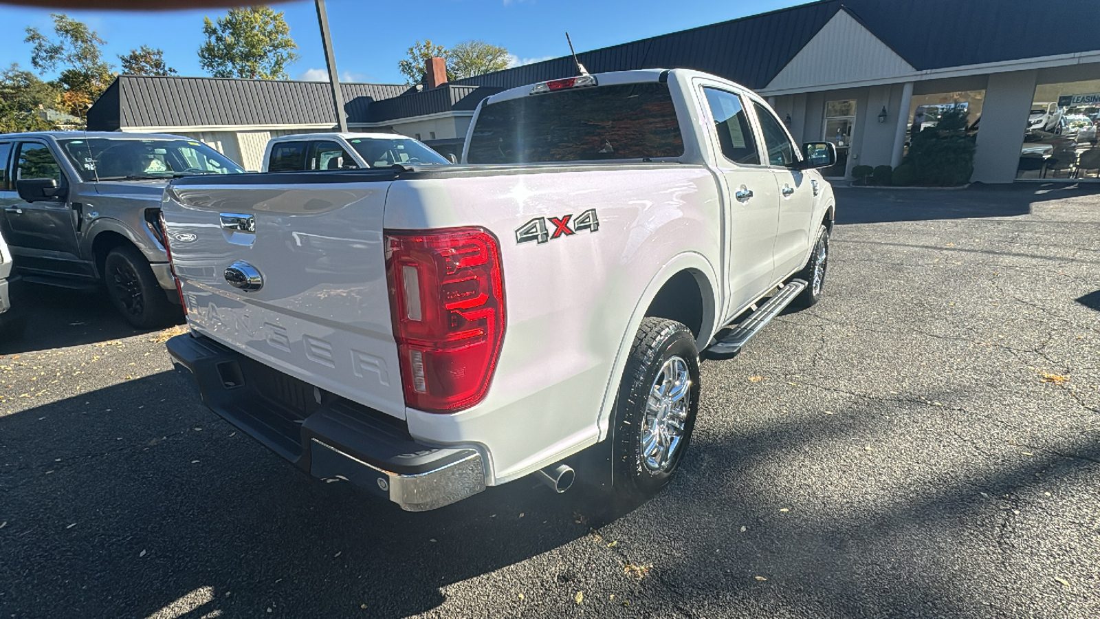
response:
M0 615L147 617L198 595L170 616L404 617L588 532L575 499L528 480L403 512L300 473L185 389L162 372L0 417Z

